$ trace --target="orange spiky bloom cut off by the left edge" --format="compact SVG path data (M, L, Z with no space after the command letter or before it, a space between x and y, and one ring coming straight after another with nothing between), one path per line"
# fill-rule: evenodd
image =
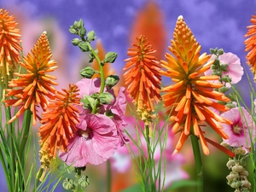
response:
M20 62L20 29L15 17L6 9L0 9L0 78L3 87L13 77L15 64Z

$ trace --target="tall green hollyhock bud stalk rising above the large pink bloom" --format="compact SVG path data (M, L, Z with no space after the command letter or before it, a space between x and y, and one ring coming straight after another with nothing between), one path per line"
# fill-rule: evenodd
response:
M95 73L101 75L101 91L92 96L84 96L81 102L84 102L84 108L90 109L92 113L97 113L100 106L103 104L110 104L113 101L113 95L108 92L103 92L104 88L110 90L115 84L119 82L119 76L109 75L106 79L104 77L103 67L106 63L113 63L117 58L117 53L108 52L105 58L101 61L97 49L92 49L91 42L96 39L94 31L87 32L84 28L84 21L74 21L73 26L70 26L69 32L79 35L79 38L73 38L72 44L78 46L83 52L88 52L89 62L96 59L99 64L100 71L96 71L93 67L87 66L80 71L83 78L91 79Z

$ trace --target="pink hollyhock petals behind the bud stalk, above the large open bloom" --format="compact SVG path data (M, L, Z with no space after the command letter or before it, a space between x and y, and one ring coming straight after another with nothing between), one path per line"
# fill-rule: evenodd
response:
M101 90L101 79L82 79L77 83L79 87L79 97L84 98L84 95L91 96L92 94L99 93ZM104 91L107 91L106 89ZM126 109L126 98L125 98L125 88L120 87L118 96L114 96L113 89L108 90L110 94L113 95L113 102L108 105L103 105L100 113L111 112L113 113L113 123L116 126L117 133L119 135L120 141L119 145L123 146L125 143L129 142L129 139L125 137L124 128L127 125L123 120ZM88 109L84 109L83 105L79 106L80 116L90 113Z

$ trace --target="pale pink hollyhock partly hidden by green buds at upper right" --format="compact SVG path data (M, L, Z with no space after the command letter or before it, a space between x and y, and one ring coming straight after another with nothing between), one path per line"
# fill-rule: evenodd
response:
M215 60L216 55L212 55L210 60ZM237 84L241 80L241 76L243 75L243 67L241 67L241 61L239 57L232 53L224 53L223 55L218 56L218 60L221 64L228 64L228 72L222 73L222 76L229 75L231 79L231 84ZM212 68L210 68L205 75L211 75ZM219 81L216 80L218 83ZM227 87L230 87L230 84L226 84Z

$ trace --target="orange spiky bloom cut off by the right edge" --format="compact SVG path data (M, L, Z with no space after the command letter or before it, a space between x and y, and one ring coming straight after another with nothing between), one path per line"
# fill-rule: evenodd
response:
M244 44L246 45L245 51L249 51L247 54L247 64L251 66L254 81L256 82L256 15L252 15L251 23L252 26L247 26L248 32L245 35L247 39L244 41Z

